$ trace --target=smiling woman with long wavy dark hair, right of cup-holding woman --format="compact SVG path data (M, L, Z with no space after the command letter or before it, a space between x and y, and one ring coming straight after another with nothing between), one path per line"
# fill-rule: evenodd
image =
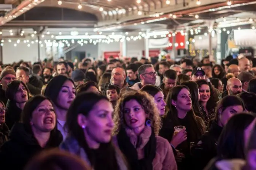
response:
M210 121L215 117L216 103L213 96L213 89L210 83L205 80L196 81L200 94L200 113L205 122L206 129L210 127Z

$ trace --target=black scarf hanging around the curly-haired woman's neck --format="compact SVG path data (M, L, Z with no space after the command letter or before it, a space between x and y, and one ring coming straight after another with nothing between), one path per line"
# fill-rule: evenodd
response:
M144 158L138 160L136 148L130 142L124 128L120 129L118 135L118 145L122 153L126 156L131 170L153 170L153 159L156 156L156 136L151 128L151 136L144 147Z

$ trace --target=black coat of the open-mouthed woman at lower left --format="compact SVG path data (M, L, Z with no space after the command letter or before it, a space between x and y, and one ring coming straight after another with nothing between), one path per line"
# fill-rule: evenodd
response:
M59 131L51 135L45 148L41 148L33 134L28 133L23 123L15 123L10 132L10 140L0 148L1 170L23 170L27 162L48 148L56 148L62 142Z

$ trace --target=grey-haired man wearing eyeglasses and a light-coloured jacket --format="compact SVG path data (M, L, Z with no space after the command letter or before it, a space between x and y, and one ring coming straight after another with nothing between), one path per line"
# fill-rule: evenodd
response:
M152 64L143 64L138 68L140 82L135 83L130 89L140 90L146 84L156 84L157 72Z

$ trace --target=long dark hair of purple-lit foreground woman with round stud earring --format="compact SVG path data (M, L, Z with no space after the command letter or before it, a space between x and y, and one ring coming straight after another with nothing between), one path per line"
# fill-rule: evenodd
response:
M95 104L97 104L100 100L108 101L108 98L92 92L83 92L78 94L68 109L65 128L67 129L69 136L74 137L78 141L80 147L84 149L94 170L117 170L118 165L115 156L116 153L112 142L101 143L98 151L94 152L88 147L83 129L80 127L80 125L78 125L77 122L77 117L79 114L88 116Z

